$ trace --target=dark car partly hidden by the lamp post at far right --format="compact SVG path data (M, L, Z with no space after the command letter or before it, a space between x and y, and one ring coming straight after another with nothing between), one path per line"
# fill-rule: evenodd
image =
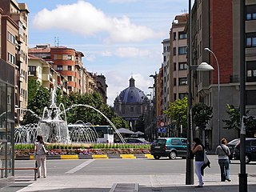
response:
M234 159L240 159L240 142L234 147ZM246 138L246 163L256 161L256 138Z

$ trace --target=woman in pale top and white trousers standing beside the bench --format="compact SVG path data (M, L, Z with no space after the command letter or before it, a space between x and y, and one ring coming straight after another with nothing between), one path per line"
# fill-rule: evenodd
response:
M38 165L38 178L41 177L41 166L43 177L46 178L46 142L43 142L41 135L37 136L37 142L34 143L34 154L36 155Z

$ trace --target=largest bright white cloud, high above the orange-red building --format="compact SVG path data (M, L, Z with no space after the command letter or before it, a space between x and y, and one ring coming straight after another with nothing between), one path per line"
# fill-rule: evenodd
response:
M89 2L78 1L71 5L58 5L54 10L43 9L35 15L33 25L39 30L51 28L67 30L85 37L106 33L104 42L142 42L162 37L149 27L135 25L130 18L109 17Z

